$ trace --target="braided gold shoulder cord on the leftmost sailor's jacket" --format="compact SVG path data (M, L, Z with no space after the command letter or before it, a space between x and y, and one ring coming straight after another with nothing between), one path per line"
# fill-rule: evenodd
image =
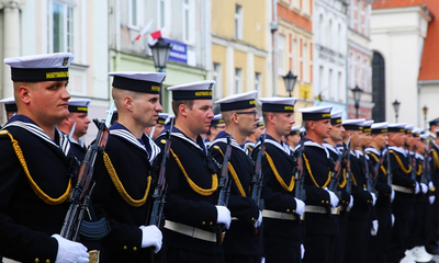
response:
M0 135L8 135L9 138L11 139L12 147L15 151L16 157L19 158L21 165L23 167L24 173L26 174L26 178L27 178L34 193L42 201L44 201L44 203L46 203L48 205L59 205L59 204L64 203L70 194L71 179L69 179L67 190L61 196L59 196L58 198L52 198L50 196L48 196L46 193L43 192L43 190L40 188L40 186L32 179L31 173L27 168L27 164L26 164L26 161L24 160L23 151L21 150L21 148L19 146L19 141L16 141L8 130L4 130L4 132L5 133L1 133Z

